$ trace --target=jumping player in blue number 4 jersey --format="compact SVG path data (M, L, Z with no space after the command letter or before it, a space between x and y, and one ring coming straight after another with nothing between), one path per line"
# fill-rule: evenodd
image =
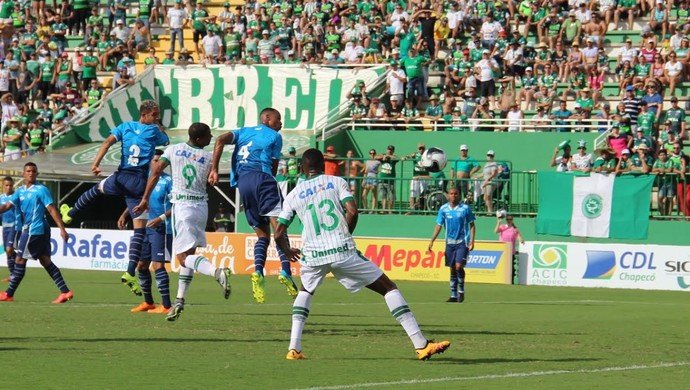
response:
M274 108L265 108L260 114L261 124L243 127L218 137L213 148L213 165L209 183L218 183L218 164L225 145L235 145L232 152L230 185L237 187L244 204L247 222L258 240L254 245L254 273L252 292L258 303L265 301L264 265L268 244L271 242L271 226L278 227L283 202L280 188L275 180L278 162L283 148L283 138L278 133L283 127L280 113ZM281 271L278 280L290 296L297 296L297 285L292 279L290 260L278 249Z

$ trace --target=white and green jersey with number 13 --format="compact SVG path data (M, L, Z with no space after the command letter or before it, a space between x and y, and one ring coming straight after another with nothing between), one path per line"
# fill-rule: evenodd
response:
M353 200L345 180L319 175L297 184L283 201L278 221L289 225L297 216L302 222L302 258L308 266L346 260L357 252L345 219L344 204Z

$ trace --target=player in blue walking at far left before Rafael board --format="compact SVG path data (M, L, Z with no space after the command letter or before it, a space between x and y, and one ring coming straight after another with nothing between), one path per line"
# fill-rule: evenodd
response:
M74 297L62 278L60 269L50 259L50 226L46 219L46 211L57 224L60 229L60 236L65 242L68 240L67 231L53 204L50 191L43 184L36 182L37 176L36 164L32 162L24 164L22 174L24 186L15 191L9 202L0 205L0 213L15 207L15 212L21 213L23 222L22 232L16 247L17 256L10 285L6 291L0 293L0 301L14 301L14 293L26 273L27 259L37 259L60 289L60 295L53 300L53 303L64 303Z

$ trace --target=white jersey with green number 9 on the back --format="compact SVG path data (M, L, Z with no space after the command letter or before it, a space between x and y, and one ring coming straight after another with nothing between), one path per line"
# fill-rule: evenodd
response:
M171 145L161 156L172 171L172 203L206 202L211 153L187 143Z

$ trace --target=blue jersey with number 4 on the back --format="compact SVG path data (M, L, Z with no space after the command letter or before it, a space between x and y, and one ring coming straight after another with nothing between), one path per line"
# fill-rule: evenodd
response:
M232 167L230 185L246 172L264 172L273 176L273 160L280 160L283 137L266 125L243 127L232 132Z

